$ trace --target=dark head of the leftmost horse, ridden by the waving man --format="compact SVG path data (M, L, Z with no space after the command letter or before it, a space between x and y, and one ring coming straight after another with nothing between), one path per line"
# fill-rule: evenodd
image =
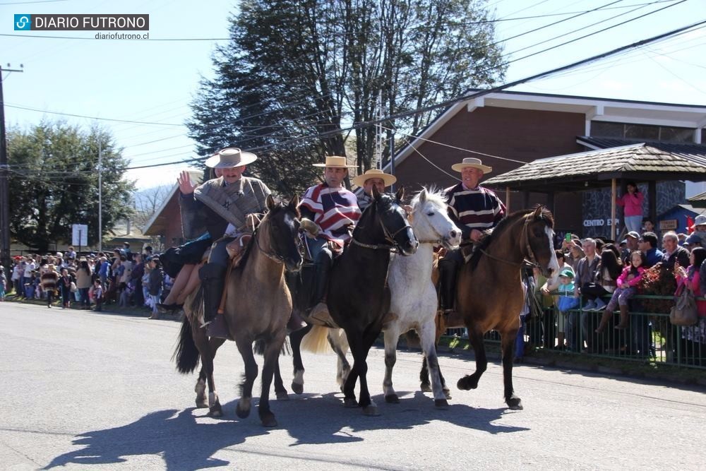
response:
M303 258L299 250L299 196L294 196L289 203L276 203L272 195L267 197L268 213L261 227L266 222L268 256L277 258L289 271L299 271ZM259 229L259 228L258 228Z

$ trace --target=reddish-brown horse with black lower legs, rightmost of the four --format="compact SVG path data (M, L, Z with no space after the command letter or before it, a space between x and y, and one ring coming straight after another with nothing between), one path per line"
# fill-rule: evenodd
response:
M542 206L517 211L501 221L462 266L456 306L468 328L476 371L458 380L459 389L477 388L488 366L483 335L496 330L501 335L505 403L510 409L522 409L522 401L513 390L513 347L525 300L522 265L529 259L546 276L559 269L553 227L554 217Z

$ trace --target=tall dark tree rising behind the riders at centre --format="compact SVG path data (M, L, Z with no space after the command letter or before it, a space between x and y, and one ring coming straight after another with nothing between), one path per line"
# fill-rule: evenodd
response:
M234 145L273 189L301 191L311 163L343 155L352 123L447 100L503 78L484 0L247 0L192 103L203 155ZM417 133L433 112L386 127ZM389 131L388 131L389 132ZM301 139L303 136L316 136ZM388 135L389 136L389 135ZM359 172L374 126L354 133ZM385 146L385 153L387 153Z

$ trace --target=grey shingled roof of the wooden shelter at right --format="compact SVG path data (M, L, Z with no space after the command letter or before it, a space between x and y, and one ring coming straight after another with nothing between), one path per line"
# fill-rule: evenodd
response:
M580 191L611 185L611 179L706 181L706 164L647 143L534 160L484 181L513 190Z

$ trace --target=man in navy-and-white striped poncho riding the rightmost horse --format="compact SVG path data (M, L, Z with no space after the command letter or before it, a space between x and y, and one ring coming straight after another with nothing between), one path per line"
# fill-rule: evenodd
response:
M493 229L505 217L505 205L500 198L479 184L483 175L493 169L475 157L467 157L451 168L461 173L461 182L446 190L449 217L460 227L462 242L479 242L484 231ZM441 306L449 326L460 324L454 305L456 275L462 263L458 249L449 251L439 261Z

